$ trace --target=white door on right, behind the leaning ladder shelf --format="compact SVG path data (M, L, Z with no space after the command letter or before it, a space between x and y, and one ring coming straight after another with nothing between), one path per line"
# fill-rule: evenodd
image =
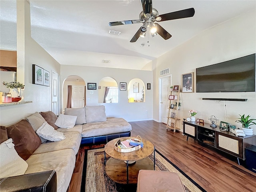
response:
M171 78L170 76L162 78L162 122L167 123L168 107L169 107L169 94L170 94Z

